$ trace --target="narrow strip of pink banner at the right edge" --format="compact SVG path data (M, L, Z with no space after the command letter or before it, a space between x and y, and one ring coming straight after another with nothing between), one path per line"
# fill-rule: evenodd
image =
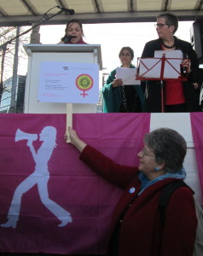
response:
M200 176L200 186L203 193L203 113L190 113L194 148Z

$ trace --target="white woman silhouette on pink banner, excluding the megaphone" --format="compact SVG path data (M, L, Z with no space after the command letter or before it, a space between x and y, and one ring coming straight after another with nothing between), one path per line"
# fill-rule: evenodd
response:
M35 184L38 185L38 193L40 199L45 207L52 212L56 218L61 221L59 227L63 227L68 223L72 222L72 218L69 212L60 207L54 201L49 199L48 193L48 181L49 181L49 170L48 162L51 157L51 154L56 147L56 130L53 126L45 126L44 129L39 134L39 140L43 141L41 147L36 153L32 140L27 141L27 146L30 147L32 152L33 159L36 163L35 171L26 179L18 185L14 191L14 196L8 212L8 221L5 224L1 224L2 227L13 227L15 228L19 220L20 214L20 202L21 197L26 191L31 189Z

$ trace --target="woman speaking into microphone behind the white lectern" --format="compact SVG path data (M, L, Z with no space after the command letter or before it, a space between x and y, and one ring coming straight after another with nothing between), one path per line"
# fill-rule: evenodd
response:
M83 40L83 24L80 20L69 20L65 29L65 35L59 44L87 44Z

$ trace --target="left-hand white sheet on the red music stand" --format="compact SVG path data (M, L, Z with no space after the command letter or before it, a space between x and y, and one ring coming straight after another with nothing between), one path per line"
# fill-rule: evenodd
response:
M160 59L143 58L139 64L139 76L142 78L159 79L160 67Z

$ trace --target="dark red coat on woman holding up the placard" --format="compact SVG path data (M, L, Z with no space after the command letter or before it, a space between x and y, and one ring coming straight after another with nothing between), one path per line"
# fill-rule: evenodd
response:
M84 148L80 160L109 182L125 189L114 209L109 235L113 235L119 216L131 204L120 226L119 256L192 256L197 218L191 189L181 187L171 195L162 229L159 195L165 184L174 178L154 183L138 196L141 182L137 178L137 167L115 164L90 146ZM134 193L129 192L131 188L135 188Z

